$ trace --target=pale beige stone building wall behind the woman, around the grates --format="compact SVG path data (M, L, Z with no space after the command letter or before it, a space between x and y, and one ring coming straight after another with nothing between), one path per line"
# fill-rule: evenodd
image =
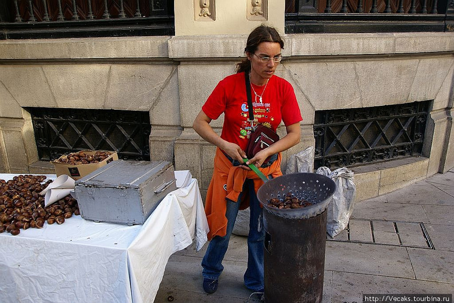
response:
M209 3L204 16L198 0L176 1L175 36L0 40L0 171L53 172L38 161L26 107L149 111L151 161L189 169L204 194L215 147L192 122L261 23L285 38L276 74L293 85L304 118L301 142L283 153L283 169L314 145L315 111L425 100L431 108L422 156L353 168L356 200L454 167L454 34L284 34L283 2L263 1L266 14L258 15L250 2ZM222 119L212 126L220 132Z

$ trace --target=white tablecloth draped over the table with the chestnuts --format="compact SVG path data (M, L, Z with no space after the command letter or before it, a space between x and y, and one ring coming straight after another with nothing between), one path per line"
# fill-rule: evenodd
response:
M169 193L143 225L73 215L62 225L2 233L0 302L153 302L168 258L193 239L200 249L207 232L192 179Z

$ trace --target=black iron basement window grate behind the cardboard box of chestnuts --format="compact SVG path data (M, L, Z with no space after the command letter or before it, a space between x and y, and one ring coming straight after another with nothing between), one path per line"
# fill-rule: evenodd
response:
M31 114L40 161L80 150L110 150L119 159L150 161L148 111L24 108Z

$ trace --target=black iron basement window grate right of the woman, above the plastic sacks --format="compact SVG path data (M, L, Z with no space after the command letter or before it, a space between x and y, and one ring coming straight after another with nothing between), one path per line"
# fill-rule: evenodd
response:
M315 112L315 169L420 156L430 101Z

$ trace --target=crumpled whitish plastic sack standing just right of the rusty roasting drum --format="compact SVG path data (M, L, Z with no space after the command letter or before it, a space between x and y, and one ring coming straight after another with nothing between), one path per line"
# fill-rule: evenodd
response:
M331 178L336 184L332 201L328 205L326 222L326 232L334 238L347 227L353 212L353 201L356 195L354 173L345 167L333 172L327 167L320 167L317 174Z

